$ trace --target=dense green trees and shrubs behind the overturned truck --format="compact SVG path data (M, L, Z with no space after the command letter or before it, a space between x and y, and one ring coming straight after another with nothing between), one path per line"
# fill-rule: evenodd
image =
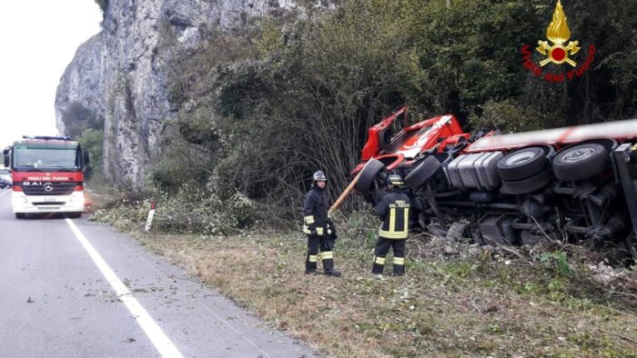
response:
M625 29L637 27L637 3L564 6L573 39L598 54L563 84L522 65L521 46L545 39L551 22L554 5L540 0L348 0L333 12L264 16L241 30L200 28L203 42L175 50L169 66L177 118L152 180L173 194L179 177L214 183L219 197L241 193L291 222L311 173L328 174L334 200L367 128L402 104L411 123L451 113L467 129L513 132L634 116L637 37ZM164 45L177 48L174 39Z

